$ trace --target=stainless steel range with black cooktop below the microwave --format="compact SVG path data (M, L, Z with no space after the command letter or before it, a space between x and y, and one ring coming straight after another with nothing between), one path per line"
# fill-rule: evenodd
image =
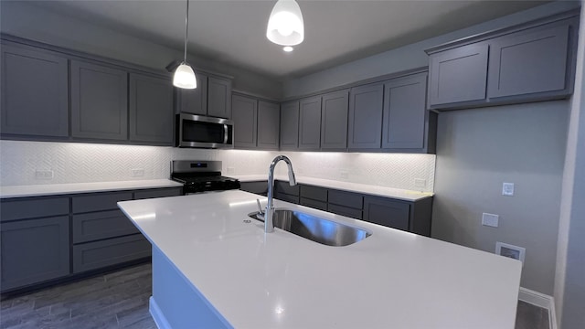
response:
M221 175L221 161L174 160L171 179L183 184L184 194L239 188L238 179Z

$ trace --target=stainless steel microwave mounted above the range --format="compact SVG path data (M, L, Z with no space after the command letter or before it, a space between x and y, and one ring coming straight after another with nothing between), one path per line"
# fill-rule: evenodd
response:
M181 112L176 114L175 131L178 147L234 147L234 123L229 119Z

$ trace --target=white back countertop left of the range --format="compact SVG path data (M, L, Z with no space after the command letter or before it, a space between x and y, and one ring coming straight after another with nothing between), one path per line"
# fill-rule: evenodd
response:
M169 179L99 183L48 184L37 186L0 186L0 198L24 196L53 196L75 193L122 191L128 189L181 186L183 185Z

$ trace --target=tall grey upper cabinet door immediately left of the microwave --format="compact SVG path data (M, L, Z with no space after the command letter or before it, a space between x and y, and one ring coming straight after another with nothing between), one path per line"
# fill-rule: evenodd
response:
M173 144L173 84L171 80L130 75L130 140Z

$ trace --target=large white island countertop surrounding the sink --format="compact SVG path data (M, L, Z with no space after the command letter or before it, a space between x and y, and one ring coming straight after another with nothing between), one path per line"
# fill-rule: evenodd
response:
M346 247L279 228L265 234L263 223L244 221L257 197L224 191L118 205L236 328L514 328L518 260L280 200L275 207L373 234Z

